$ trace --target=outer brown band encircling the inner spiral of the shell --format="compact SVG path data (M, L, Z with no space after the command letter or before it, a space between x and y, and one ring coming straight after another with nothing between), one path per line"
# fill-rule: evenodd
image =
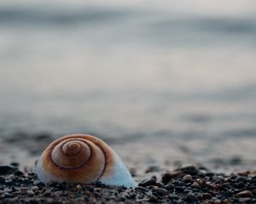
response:
M85 144L89 147L90 158L88 158L81 166L72 168L59 167L55 164L51 157L55 146L67 144L75 140L76 142ZM76 144L76 145L79 145ZM68 146L67 146L68 147ZM70 149L76 149L78 146L71 146ZM66 148L66 147L65 147ZM44 150L43 167L46 171L51 172L57 178L63 178L67 182L91 183L97 179L108 177L113 173L114 153L113 150L105 144L101 139L87 134L72 134L56 139ZM64 159L65 160L65 159Z

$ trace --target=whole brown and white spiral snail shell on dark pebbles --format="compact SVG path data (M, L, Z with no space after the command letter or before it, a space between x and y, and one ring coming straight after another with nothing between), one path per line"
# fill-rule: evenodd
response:
M119 156L101 139L71 134L56 139L40 156L36 172L47 183L102 184L134 187L131 173Z

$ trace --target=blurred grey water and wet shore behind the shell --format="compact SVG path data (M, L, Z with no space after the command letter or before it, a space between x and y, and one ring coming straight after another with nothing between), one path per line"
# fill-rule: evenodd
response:
M0 163L92 133L129 167L253 169L255 64L253 0L2 0Z

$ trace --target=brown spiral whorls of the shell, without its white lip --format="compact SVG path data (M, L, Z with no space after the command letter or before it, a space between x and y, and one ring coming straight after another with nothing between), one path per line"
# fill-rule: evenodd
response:
M101 139L75 134L56 139L44 150L44 170L68 182L91 183L113 173L113 150Z

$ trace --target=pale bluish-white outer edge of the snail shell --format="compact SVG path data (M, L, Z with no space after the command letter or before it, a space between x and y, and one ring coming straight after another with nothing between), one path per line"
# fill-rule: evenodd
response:
M108 144L107 144L108 145ZM96 179L96 181L102 182L102 184L107 184L110 186L125 186L126 188L134 188L137 186L133 178L131 177L131 173L125 167L125 164L119 156L108 146L108 148L113 152L113 159L114 159L114 166L113 166L113 173L108 174L105 176L104 173L102 174L101 178ZM36 173L38 175L38 179L43 182L44 184L48 183L73 183L65 180L65 178L60 178L58 176L53 175L49 171L45 170L43 167L43 158L44 156L40 156L38 163L36 164ZM89 184L83 183L82 184Z

